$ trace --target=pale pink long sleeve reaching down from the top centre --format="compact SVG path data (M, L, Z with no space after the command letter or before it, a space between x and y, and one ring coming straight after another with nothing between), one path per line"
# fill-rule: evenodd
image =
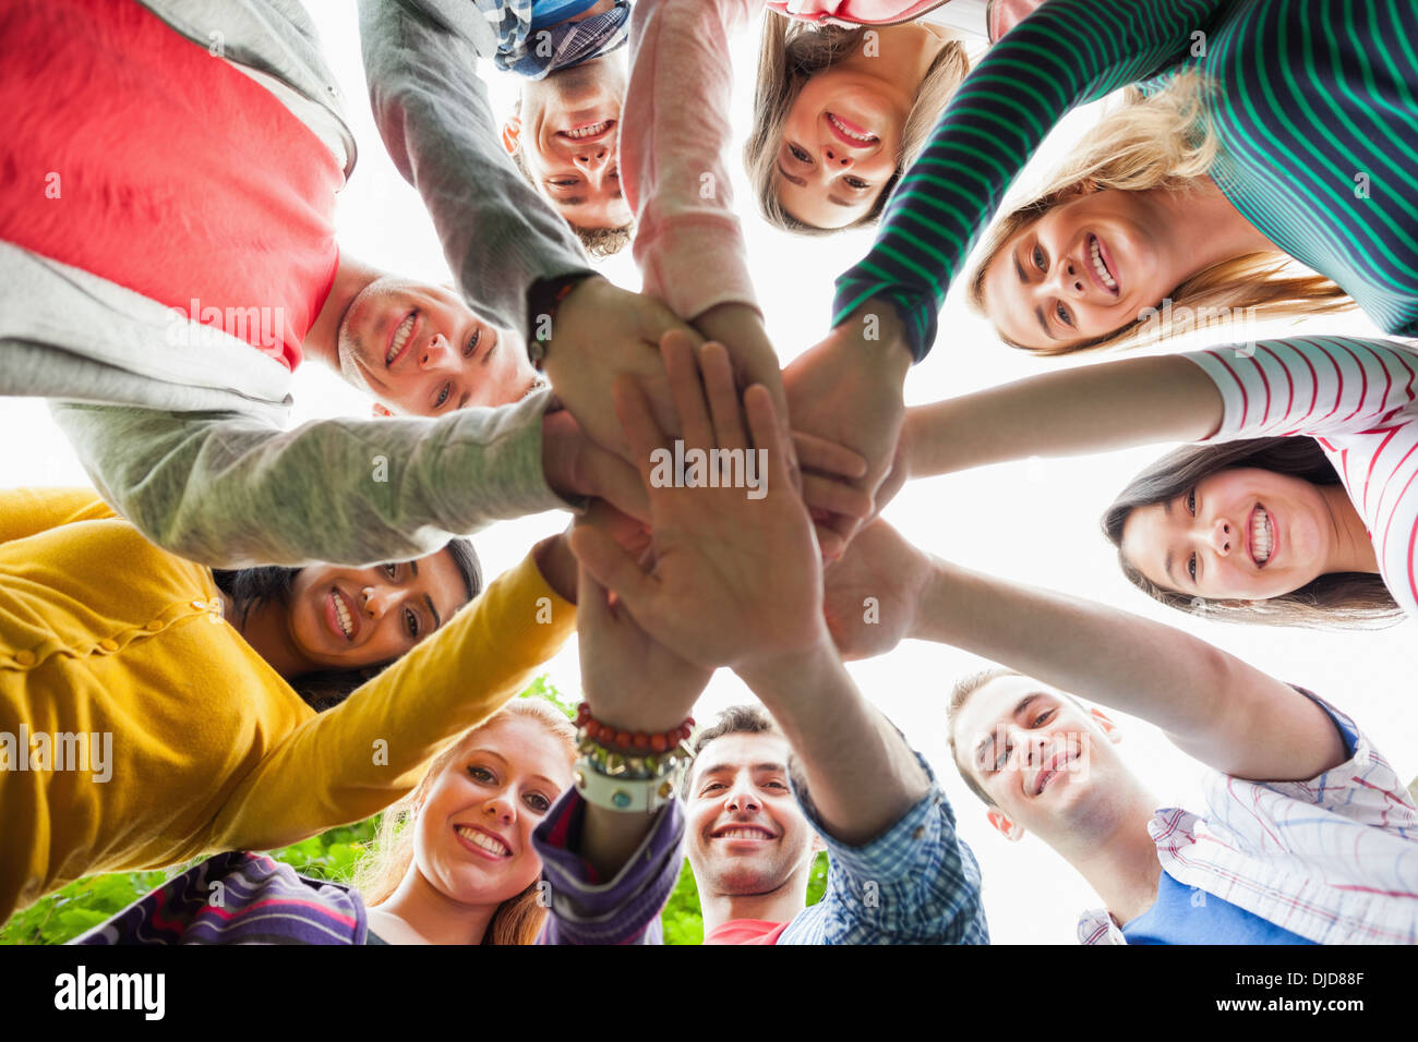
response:
M644 291L693 319L757 308L723 152L733 75L729 31L763 0L640 0L621 113L621 186L635 213Z

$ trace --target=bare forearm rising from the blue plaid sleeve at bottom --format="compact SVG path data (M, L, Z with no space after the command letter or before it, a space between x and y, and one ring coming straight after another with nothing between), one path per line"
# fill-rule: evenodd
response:
M862 698L830 641L740 676L783 729L834 839L875 839L930 788L915 753Z

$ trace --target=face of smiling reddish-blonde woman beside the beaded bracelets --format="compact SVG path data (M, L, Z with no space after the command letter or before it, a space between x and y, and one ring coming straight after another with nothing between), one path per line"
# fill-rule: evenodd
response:
M535 829L571 784L564 744L546 726L505 716L462 740L414 825L414 865L445 897L498 904L542 872Z

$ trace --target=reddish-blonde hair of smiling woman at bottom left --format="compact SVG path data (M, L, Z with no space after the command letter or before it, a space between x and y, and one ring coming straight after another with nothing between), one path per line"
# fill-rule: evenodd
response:
M428 764L424 777L393 807L384 811L380 818L379 831L369 852L354 869L352 885L364 899L364 904L373 907L389 900L398 883L414 863L414 829L411 828L417 817L417 808L428 797L438 775L457 757L462 744L481 730L502 723L503 720L523 719L540 723L546 732L560 741L570 764L576 758L576 727L559 709L546 699L525 698L512 699L508 705L489 716L476 727L464 732L458 739L434 757ZM488 923L488 931L482 937L484 944L533 944L542 923L546 919L546 909L537 903L537 880L533 880L522 893L509 897L498 906Z

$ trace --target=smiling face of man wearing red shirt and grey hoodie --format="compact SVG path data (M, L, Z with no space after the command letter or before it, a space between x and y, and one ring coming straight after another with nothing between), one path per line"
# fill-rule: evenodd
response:
M340 320L340 371L393 413L444 415L505 405L539 384L526 352L451 289L377 278Z

